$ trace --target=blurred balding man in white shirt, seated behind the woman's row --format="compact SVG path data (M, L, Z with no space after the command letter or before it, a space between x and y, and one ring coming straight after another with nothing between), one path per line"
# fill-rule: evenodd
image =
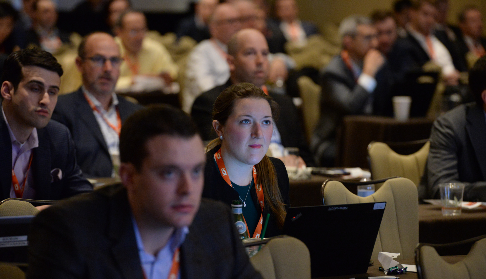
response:
M183 111L191 112L197 96L228 80L227 44L240 29L240 13L233 4L222 3L216 6L209 20L211 39L200 42L187 61L182 91Z

